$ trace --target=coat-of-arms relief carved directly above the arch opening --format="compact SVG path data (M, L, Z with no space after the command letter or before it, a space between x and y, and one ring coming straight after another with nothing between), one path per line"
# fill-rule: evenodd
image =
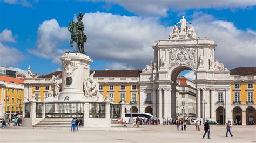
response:
M194 58L196 55L196 48L170 48L168 49L170 55L170 68L179 65L179 64L188 64L196 69L196 63L194 62Z

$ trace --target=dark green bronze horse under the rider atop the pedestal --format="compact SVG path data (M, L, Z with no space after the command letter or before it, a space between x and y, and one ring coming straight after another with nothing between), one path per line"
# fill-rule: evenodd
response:
M76 53L82 53L84 52L84 43L87 40L86 35L82 32L82 34L78 31L77 24L75 22L70 22L68 30L71 33L71 39L70 39L70 46L73 47L73 41L76 42Z

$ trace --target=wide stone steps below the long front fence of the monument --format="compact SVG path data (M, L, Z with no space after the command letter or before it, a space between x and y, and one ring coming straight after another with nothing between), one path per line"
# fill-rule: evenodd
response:
M34 127L71 127L72 118L45 118Z

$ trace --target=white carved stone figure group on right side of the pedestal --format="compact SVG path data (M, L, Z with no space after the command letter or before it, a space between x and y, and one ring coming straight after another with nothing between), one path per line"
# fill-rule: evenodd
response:
M99 92L99 83L93 79L95 71L84 81L84 96L87 97L103 97Z

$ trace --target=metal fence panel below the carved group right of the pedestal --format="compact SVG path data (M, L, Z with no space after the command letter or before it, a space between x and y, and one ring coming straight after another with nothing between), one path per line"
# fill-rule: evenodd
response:
M105 103L90 102L89 118L106 118Z

